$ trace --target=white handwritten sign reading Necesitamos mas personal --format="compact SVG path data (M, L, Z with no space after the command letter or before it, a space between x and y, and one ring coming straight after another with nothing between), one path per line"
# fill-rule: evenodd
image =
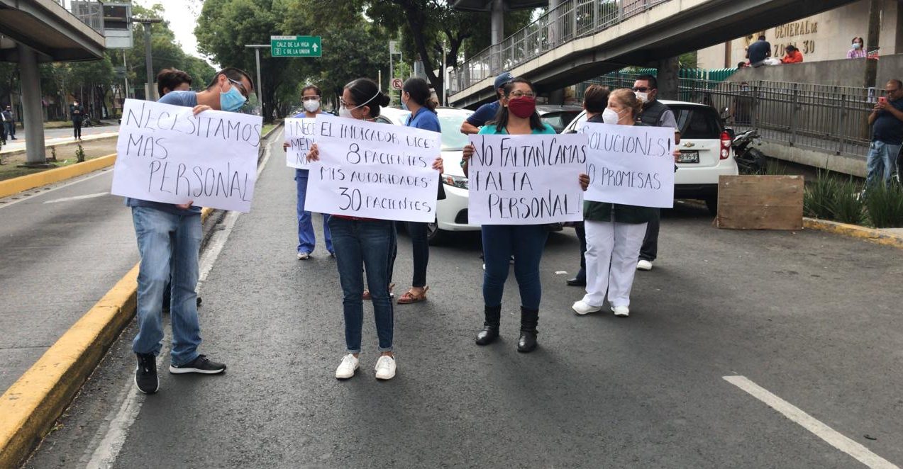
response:
M247 212L254 196L259 116L126 99L116 196Z

